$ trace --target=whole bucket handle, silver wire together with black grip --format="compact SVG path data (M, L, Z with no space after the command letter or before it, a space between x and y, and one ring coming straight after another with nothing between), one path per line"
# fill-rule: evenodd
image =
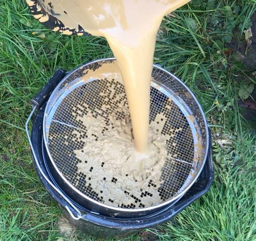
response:
M38 170L40 171L40 174L45 178L45 180L48 182L48 184L50 186L52 186L54 188L54 190L58 194L60 194L61 197L65 201L67 201L67 203L74 209L74 211L76 212L76 215L73 214L72 210L67 205L65 206L65 208L67 209L67 212L70 214L70 216L74 220L79 220L82 217L82 214L81 214L80 210L74 206L74 204L67 198L67 196L59 188L57 188L52 183L52 181L49 180L47 175L41 169L41 167L39 165L39 161L38 161L37 156L35 154L34 147L33 147L33 144L32 144L31 138L30 138L30 134L29 134L29 130L28 130L28 123L31 120L32 115L34 114L35 110L40 108L40 105L43 103L43 101L46 99L46 97L54 90L54 88L60 82L60 80L62 80L64 78L64 76L65 76L65 72L63 70L57 70L54 73L53 77L48 81L47 85L41 89L41 91L34 97L33 100L30 101L30 104L33 106L33 109L32 109L31 113L29 114L29 116L27 118L25 128L26 128L26 133L27 133L27 139L29 141L31 151L32 151L32 154L34 156L34 160L36 162Z

